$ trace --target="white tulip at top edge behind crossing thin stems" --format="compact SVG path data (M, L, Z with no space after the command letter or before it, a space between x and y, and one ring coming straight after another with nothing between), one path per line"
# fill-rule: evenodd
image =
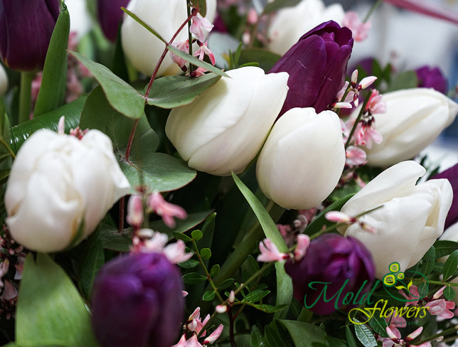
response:
M131 0L127 9L148 23L167 42L171 40L181 24L188 18L186 1L183 0ZM207 0L205 18L213 23L215 16L216 0ZM166 48L165 44L127 15L124 16L122 23L121 38L124 54L134 65L134 68L144 75L151 76L164 48ZM186 39L188 39L187 25L176 36L174 42L185 41ZM167 54L159 69L159 75L174 75L180 72L179 66L172 61L170 54Z

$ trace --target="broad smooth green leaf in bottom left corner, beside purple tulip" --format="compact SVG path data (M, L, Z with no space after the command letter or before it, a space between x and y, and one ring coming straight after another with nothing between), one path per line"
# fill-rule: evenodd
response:
M99 346L80 294L48 255L29 254L24 265L16 311L16 344L63 341L65 346Z

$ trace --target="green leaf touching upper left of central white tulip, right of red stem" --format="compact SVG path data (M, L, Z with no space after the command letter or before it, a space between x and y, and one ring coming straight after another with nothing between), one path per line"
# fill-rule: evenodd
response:
M215 73L207 73L198 78L185 76L165 76L154 80L147 98L148 105L173 108L191 104L221 78Z

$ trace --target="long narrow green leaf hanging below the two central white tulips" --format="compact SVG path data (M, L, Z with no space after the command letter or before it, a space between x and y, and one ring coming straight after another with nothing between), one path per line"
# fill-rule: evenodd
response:
M277 225L275 225L272 218L270 218L269 213L265 210L262 203L260 203L255 194L253 194L250 189L248 189L247 186L240 181L240 178L238 178L235 173L232 173L232 176L235 184L238 186L243 196L245 196L259 220L262 230L264 230L265 237L272 240L280 252L287 252L288 247L284 243L283 237L277 229ZM292 300L292 279L287 275L284 271L284 266L279 262L275 263L275 269L277 271L277 306L283 304L289 306ZM285 309L282 314L277 314L277 316L286 316L287 311L288 310Z

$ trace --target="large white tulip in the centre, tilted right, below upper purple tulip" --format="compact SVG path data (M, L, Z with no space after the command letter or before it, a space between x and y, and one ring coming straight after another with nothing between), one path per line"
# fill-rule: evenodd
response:
M242 172L260 151L286 98L287 73L230 70L190 105L171 110L166 134L188 166L217 176Z

